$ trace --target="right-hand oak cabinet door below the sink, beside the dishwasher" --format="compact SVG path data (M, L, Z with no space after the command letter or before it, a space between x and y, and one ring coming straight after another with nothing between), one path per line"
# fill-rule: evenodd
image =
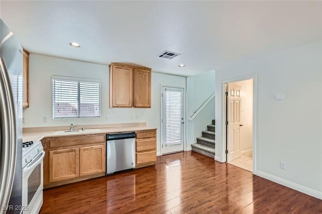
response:
M105 172L105 145L79 148L79 176Z

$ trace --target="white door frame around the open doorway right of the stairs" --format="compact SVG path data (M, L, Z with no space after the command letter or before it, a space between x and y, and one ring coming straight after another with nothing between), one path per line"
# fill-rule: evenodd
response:
M227 150L227 136L226 136L226 121L227 121L227 115L226 115L226 88L225 84L227 83L232 83L232 82L238 82L238 81L243 81L243 80L248 80L248 79L253 79L253 174L256 174L257 170L257 138L256 138L256 129L257 129L257 74L251 74L247 76L239 76L239 77L234 77L230 79L224 79L221 81L221 88L222 88L222 101L221 101L221 110L222 110L222 136L223 136L223 146L222 146L222 154L223 154L223 160L224 162L227 162L227 155L225 151Z

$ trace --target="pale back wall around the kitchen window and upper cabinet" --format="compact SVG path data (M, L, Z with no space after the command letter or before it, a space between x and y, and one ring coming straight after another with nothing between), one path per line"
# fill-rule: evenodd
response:
M160 153L160 84L186 87L186 77L159 74L151 76L151 108L109 108L109 67L37 54L30 54L29 108L24 109L24 127L73 124L117 124L146 122L157 128L157 154ZM101 118L52 119L52 75L101 80ZM109 120L105 120L109 115ZM47 123L42 122L47 117ZM133 120L130 120L133 117ZM136 119L137 118L137 119Z

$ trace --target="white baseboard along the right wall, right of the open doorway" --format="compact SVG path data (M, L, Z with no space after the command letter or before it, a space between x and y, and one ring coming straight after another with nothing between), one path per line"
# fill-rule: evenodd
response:
M295 190L297 190L299 192L303 192L305 194L311 195L313 197L316 197L316 198L322 200L322 192L316 191L314 189L311 189L311 188L302 186L300 184L291 182L289 180L285 180L285 179L280 178L280 177L276 177L274 175L271 175L271 174L268 174L266 172L262 172L262 171L259 171L259 170L256 171L256 175L258 175L260 177L263 177L263 178L266 178L266 179L268 179L270 181L273 181L275 183L281 184L283 186L287 186L287 187L289 187L291 189L295 189Z

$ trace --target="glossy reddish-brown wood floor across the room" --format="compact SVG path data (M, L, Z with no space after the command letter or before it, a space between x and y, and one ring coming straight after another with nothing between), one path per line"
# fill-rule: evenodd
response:
M189 151L45 190L40 213L322 213L322 201Z

